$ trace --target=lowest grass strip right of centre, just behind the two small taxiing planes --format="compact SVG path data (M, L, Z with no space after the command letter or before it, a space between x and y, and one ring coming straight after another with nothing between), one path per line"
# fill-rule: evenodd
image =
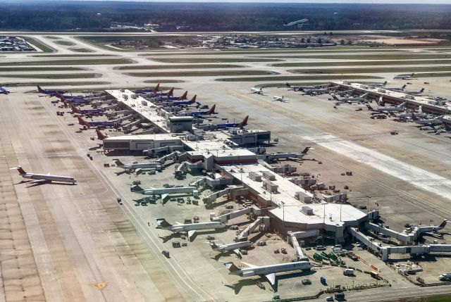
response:
M266 81L311 81L311 80L360 80L360 79L381 79L373 75L304 75L304 76L281 76L281 77L230 77L216 79L222 82L266 82Z

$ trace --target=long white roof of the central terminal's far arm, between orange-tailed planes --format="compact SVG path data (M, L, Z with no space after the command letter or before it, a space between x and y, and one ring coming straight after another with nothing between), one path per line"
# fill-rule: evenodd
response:
M128 89L124 89L123 91L106 90L106 92L111 94L111 96L114 96L119 102L124 103L137 113L140 113L140 115L147 118L164 132L170 132L168 126L166 125L166 118L159 115L159 107L154 105L154 103L147 101L142 96L138 96ZM135 99L133 99L132 96L135 97ZM142 105L142 101L145 101L147 106Z

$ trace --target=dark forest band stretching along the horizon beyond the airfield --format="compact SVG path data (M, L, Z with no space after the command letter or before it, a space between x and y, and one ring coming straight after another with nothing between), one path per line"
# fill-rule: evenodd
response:
M309 19L304 30L451 29L451 5L10 1L0 0L0 30L100 32L120 22L176 23L185 31L270 31L287 30L285 20L302 18Z

